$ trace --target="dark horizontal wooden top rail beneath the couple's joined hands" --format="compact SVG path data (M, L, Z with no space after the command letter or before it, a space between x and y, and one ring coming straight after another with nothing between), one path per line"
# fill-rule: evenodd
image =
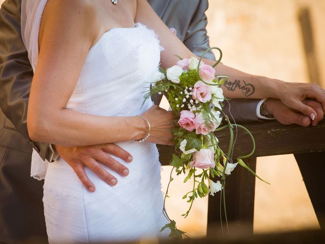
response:
M325 151L325 119L315 127L285 126L275 120L244 126L252 133L256 142L253 157ZM229 147L229 130L225 129L216 135L219 146L226 151ZM239 129L233 158L246 155L251 149L252 143L248 134ZM174 147L158 145L158 150L160 162L168 165Z

